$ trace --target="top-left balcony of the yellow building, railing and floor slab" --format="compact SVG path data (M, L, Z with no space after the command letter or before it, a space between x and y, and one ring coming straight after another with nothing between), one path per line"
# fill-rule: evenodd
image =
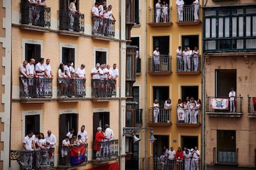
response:
M156 13L155 7L148 7L148 25L150 26L171 26L171 7L167 9L167 14L163 15L163 9L161 12Z

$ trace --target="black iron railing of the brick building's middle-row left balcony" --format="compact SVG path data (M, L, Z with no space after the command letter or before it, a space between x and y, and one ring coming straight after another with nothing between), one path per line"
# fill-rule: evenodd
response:
M53 96L53 79L20 77L20 99L50 98Z

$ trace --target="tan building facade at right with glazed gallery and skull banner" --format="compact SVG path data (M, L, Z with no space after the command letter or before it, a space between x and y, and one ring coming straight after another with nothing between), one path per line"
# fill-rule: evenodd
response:
M255 1L203 5L205 164L255 168Z

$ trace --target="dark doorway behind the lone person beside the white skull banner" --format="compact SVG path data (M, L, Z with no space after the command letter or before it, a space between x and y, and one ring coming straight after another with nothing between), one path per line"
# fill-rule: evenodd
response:
M231 87L236 91L236 70L215 70L216 97L228 97Z

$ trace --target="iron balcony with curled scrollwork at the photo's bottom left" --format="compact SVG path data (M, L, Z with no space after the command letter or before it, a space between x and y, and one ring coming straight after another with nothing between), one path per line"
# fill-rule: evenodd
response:
M11 150L10 160L16 160L20 169L53 169L54 148L48 150Z

